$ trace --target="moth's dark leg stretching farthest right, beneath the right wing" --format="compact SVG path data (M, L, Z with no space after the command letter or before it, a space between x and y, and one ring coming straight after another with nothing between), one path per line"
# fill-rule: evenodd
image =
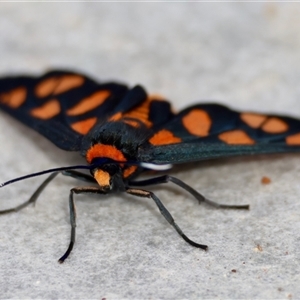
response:
M163 175L159 177L154 177L146 180L141 180L141 181L130 181L129 185L133 186L148 186L148 185L155 185L155 184L160 184L160 183L168 183L168 182L173 182L176 185L180 186L190 194L192 194L198 201L199 203L205 202L211 206L217 207L217 208L229 208L229 209L249 209L249 205L227 205L227 204L219 204L217 202L211 201L207 198L205 198L203 195L201 195L199 192L194 190L192 187L184 183L183 181L179 180L176 177L170 176L170 175Z

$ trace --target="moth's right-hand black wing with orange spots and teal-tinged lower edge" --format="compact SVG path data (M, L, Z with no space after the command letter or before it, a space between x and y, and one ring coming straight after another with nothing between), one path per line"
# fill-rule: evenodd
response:
M140 148L139 159L156 163L299 152L300 120L198 104L162 125L148 142Z

